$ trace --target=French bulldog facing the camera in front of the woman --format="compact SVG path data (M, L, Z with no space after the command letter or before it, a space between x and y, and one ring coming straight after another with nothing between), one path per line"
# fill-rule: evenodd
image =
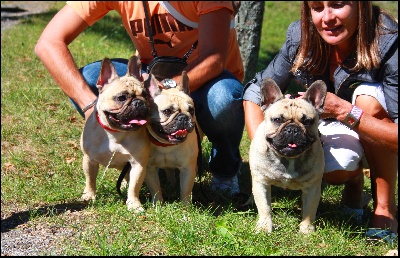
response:
M272 79L261 84L264 121L250 144L252 192L259 219L257 231L272 232L271 185L302 191L300 232L315 231L313 222L321 198L324 152L318 120L326 85L314 82L301 98L285 98Z

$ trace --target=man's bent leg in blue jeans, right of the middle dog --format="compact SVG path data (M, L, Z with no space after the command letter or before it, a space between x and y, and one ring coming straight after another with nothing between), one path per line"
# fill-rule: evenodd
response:
M232 194L239 192L237 174L242 165L239 152L244 130L242 95L242 84L226 70L191 93L197 121L212 143L209 168L217 183L221 183L220 189L231 188Z

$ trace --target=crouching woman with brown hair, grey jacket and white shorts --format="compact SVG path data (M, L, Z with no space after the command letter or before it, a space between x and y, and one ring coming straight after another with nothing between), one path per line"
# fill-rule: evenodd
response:
M263 120L263 79L273 78L282 92L292 79L304 88L315 80L325 81L329 92L319 125L324 180L344 184L344 207L362 215L365 155L374 198L373 228L367 236L386 241L395 238L398 227L397 29L397 20L369 1L304 1L300 21L289 26L280 52L246 84L243 97L252 140Z

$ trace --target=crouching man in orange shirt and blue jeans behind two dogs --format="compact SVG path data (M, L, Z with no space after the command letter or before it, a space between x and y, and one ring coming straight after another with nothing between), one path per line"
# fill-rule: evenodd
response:
M85 119L93 112L89 103L98 95L96 81L101 61L78 70L68 45L111 10L121 15L146 71L154 55L142 1L67 2L35 46L38 57ZM185 71L197 121L212 143L211 188L229 189L231 194L237 194L237 174L242 164L239 144L244 130L241 84L244 68L234 29L232 2L149 1L147 10L158 56L183 57L198 42L187 59ZM127 59L112 61L118 75L125 75ZM170 79L179 81L179 75Z

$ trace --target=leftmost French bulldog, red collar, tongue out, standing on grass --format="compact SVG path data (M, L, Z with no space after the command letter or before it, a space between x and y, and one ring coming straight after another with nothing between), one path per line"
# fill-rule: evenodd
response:
M104 58L97 81L99 96L82 135L83 171L86 186L81 199L94 200L99 164L122 170L130 163L128 210L143 211L139 190L150 154L147 119L150 115L151 77L143 82L137 56L128 61L128 71L119 77L114 65Z

